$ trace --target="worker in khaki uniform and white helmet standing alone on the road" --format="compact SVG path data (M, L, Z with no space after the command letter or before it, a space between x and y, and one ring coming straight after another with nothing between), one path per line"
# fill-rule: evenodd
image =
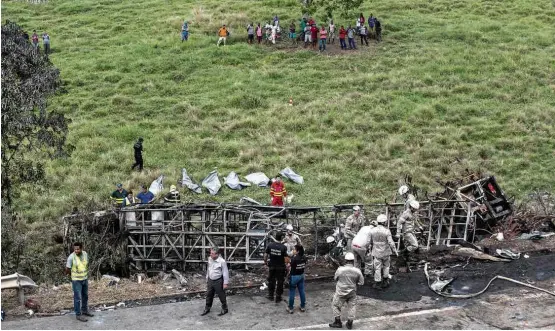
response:
M332 311L335 321L330 323L330 328L342 328L341 308L346 303L348 309L347 329L353 328L353 320L356 313L357 285L364 285L364 276L360 270L353 265L355 256L349 252L345 254L346 264L339 267L335 272L334 280L337 282L335 286L335 294L333 295Z

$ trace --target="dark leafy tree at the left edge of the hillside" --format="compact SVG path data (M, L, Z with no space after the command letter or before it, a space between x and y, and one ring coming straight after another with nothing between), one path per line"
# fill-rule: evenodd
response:
M45 178L47 158L68 156L69 120L47 110L60 73L13 22L2 25L2 201L13 207L17 188ZM2 222L2 225L4 222Z

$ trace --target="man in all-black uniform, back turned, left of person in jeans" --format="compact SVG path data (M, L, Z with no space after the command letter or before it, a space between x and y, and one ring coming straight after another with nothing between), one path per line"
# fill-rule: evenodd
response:
M283 294L283 282L285 280L285 257L287 257L287 247L281 243L283 233L276 234L277 242L272 242L266 247L264 254L264 265L268 266L268 299L281 302ZM268 258L270 261L268 261ZM276 288L277 281L277 288Z

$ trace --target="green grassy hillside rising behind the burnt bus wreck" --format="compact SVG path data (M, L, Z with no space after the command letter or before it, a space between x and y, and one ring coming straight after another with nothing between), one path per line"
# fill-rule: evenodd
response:
M19 207L31 220L56 219L105 201L116 182L136 189L163 173L169 187L182 167L201 180L214 167L272 176L291 166L306 181L289 185L299 205L382 201L407 173L433 189L457 157L509 194L555 182L552 1L362 8L381 18L384 42L328 56L244 42L247 22L298 19L296 0L2 1L3 20L49 32L67 89L50 107L73 120L76 146L48 165L46 192L29 190ZM225 48L215 46L221 23L232 31ZM143 174L130 171L139 136ZM213 199L243 195L268 201L255 187Z

